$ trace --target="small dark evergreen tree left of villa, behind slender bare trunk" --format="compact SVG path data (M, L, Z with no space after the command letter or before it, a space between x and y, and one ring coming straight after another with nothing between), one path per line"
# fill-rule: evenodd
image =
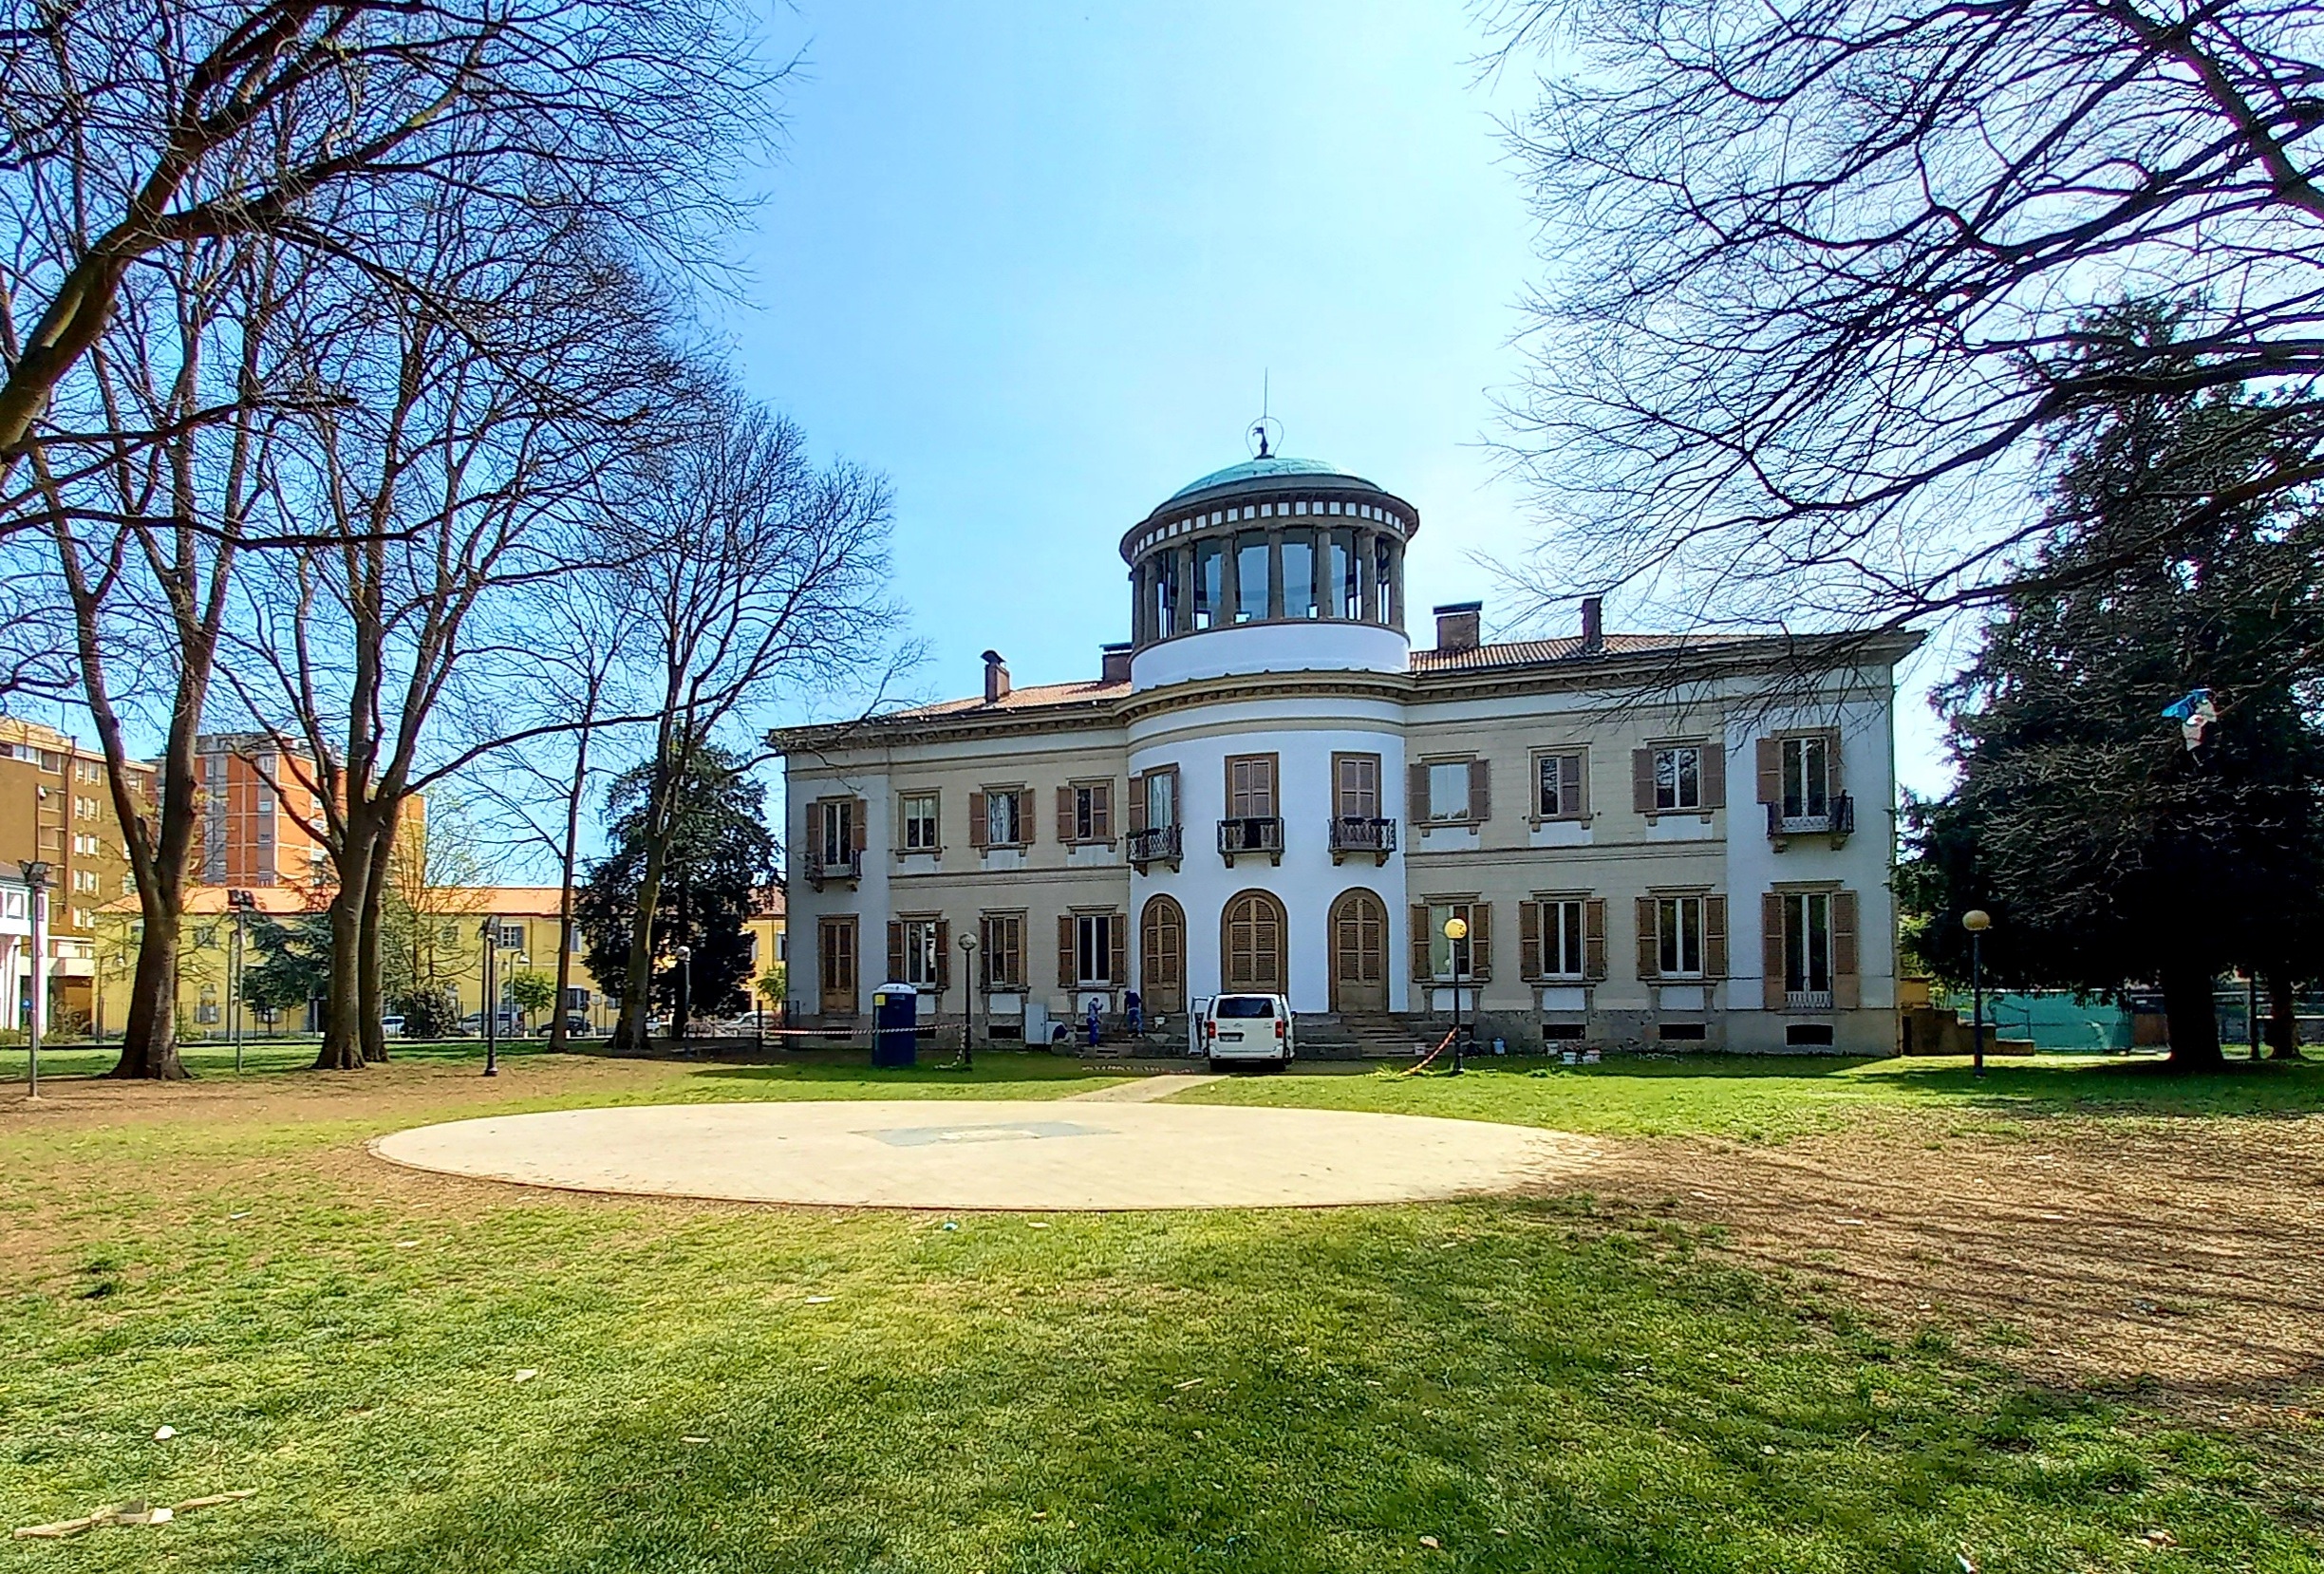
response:
M574 902L588 942L588 970L600 988L621 995L630 972L630 925L646 851L641 825L651 765L637 765L607 788L611 851L597 860ZM767 830L767 788L723 749L702 749L679 784L679 825L653 916L655 1004L672 1021L741 1011L751 983L751 902L774 870ZM690 946L686 967L679 946ZM681 997L690 988L690 997Z

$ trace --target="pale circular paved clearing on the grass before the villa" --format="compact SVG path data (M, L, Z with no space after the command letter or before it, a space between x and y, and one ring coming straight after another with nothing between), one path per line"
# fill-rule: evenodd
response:
M560 1109L395 1132L414 1169L523 1186L906 1209L1422 1202L1578 1172L1592 1144L1485 1121L1097 1102Z

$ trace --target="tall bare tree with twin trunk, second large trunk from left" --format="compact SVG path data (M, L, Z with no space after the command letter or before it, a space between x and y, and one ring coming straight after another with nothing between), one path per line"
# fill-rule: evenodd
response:
M318 772L318 809L281 804L337 877L318 1067L386 1058L381 897L404 802L509 742L439 756L437 707L509 679L490 672L521 658L495 602L574 570L602 467L653 446L676 388L667 302L597 242L586 223L544 232L442 202L400 258L425 288L351 288L314 342L337 405L277 484L332 546L274 553L249 586L235 686Z

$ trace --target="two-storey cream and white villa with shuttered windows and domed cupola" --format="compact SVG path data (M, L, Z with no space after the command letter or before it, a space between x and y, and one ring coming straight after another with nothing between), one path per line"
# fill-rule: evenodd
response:
M1917 635L1611 635L1592 600L1483 644L1466 602L1415 651L1418 532L1362 477L1232 465L1122 537L1099 677L985 651L976 697L776 732L792 1014L911 983L1006 1039L1267 990L1322 1044L1457 1002L1511 1049L1892 1053Z

